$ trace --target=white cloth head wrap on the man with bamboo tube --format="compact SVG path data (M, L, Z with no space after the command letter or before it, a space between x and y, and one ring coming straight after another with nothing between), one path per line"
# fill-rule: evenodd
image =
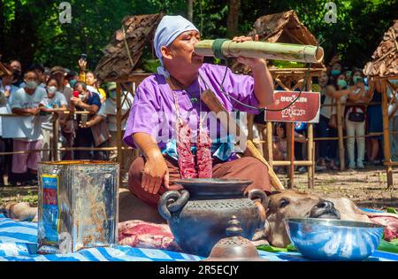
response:
M199 32L192 22L190 22L188 19L184 19L181 16L164 16L163 19L160 20L153 40L153 46L157 53L157 58L159 58L160 63L162 64L162 66L157 67L158 74L164 75L165 78L170 77L169 72L167 72L163 64L162 52L160 51L160 48L162 46L168 46L171 44L172 41L181 35L181 33L191 30Z

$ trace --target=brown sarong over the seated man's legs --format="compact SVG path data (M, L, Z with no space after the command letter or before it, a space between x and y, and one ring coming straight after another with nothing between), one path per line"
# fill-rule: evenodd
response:
M180 170L176 160L165 158L169 168L169 180L180 179ZM128 172L128 189L142 201L149 205L157 206L159 198L167 191L162 184L157 194L149 194L142 188L142 171L145 159L138 157L134 159ZM213 178L235 178L249 179L253 181L245 191L259 189L271 192L271 181L268 168L260 160L252 157L243 157L229 162L213 162ZM170 183L172 186L172 183Z

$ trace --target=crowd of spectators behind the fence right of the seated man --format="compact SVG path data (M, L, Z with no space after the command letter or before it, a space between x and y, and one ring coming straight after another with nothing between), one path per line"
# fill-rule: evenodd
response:
M338 147L337 104L341 104L341 124L345 137L345 162L349 170L364 169L368 166L382 165L383 161L383 120L381 109L381 81L364 76L355 66L345 66L339 56L333 57L317 81L313 82L313 91L320 92L321 107L319 122L314 126L316 140L316 170L340 169ZM289 77L285 84L291 81ZM392 81L397 86L397 81ZM290 84L288 84L290 85ZM283 90L281 87L276 89ZM296 91L300 86L296 87ZM394 92L387 89L388 100ZM340 102L338 102L338 100ZM398 110L395 102L388 106L389 130L398 131ZM256 117L262 123L264 114ZM264 123L264 122L263 122ZM295 123L295 159L305 159L306 123ZM273 159L287 159L286 124L276 123L273 128ZM390 135L392 159L398 159L398 135ZM299 167L305 172L306 167ZM282 172L285 171L279 167Z

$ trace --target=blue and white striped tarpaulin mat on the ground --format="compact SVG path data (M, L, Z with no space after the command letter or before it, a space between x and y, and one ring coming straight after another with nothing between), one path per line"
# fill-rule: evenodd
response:
M37 251L37 223L13 221L0 214L0 261L198 261L203 258L181 252L142 249L118 245L80 250L68 254L40 255ZM272 261L306 261L298 252L258 251ZM367 260L398 260L398 255L374 252Z

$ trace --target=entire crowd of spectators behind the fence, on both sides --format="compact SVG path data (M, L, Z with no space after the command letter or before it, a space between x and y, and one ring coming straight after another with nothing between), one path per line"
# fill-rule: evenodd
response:
M89 151L92 147L116 146L116 83L100 84L96 74L86 71L87 61L78 62L79 73L63 66L44 67L34 64L23 69L18 60L7 65L11 75L0 78L0 152L14 152L0 156L0 186L4 177L10 185L37 184L38 162L50 159L115 160L116 151ZM297 82L288 77L283 82ZM393 81L394 83L394 81ZM394 83L396 86L396 82ZM298 83L300 85L300 82ZM280 86L276 89L283 89ZM299 90L296 86L295 90ZM337 100L340 100L348 169L363 169L365 165L381 165L382 110L381 82L364 76L361 69L344 66L338 56L333 57L313 90L321 94L319 122L314 127L316 141L316 170L337 170L341 164L337 138ZM393 92L388 89L388 97ZM133 102L126 94L122 115L128 115ZM13 113L14 116L8 114ZM388 107L391 131L398 131L396 102ZM16 115L16 116L15 116ZM79 147L52 154L54 126L59 123L58 147ZM256 115L256 123L264 123L264 114ZM0 124L1 125L1 124ZM126 118L122 130L126 128ZM295 159L306 159L307 124L295 123ZM11 135L11 136L10 136ZM365 136L366 135L366 136ZM286 123L275 123L273 130L273 159L287 159ZM393 159L398 159L398 136L390 138ZM35 150L42 150L41 152ZM131 151L124 151L131 158ZM129 167L129 160L122 166ZM306 167L299 167L305 172ZM285 171L284 167L277 171ZM5 175L6 174L6 175Z

